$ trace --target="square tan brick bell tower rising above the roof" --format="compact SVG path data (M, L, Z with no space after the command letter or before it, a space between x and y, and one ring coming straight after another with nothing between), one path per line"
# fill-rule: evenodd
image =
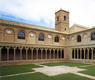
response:
M59 10L55 13L55 29L57 31L69 33L69 12Z

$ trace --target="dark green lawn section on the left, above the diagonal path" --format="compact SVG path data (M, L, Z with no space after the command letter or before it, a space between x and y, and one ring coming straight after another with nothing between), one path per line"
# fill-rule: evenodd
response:
M40 67L34 64L15 65L15 66L0 66L0 76L9 74L18 74L24 72L32 72L32 68Z

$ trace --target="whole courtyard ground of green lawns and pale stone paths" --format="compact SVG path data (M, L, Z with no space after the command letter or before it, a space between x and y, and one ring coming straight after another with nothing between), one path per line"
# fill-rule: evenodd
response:
M0 66L0 80L95 80L95 65L56 62Z

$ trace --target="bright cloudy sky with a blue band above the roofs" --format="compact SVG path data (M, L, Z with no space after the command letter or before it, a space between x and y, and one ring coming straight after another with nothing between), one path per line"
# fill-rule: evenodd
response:
M0 19L55 27L55 12L70 12L70 26L95 26L95 0L0 0Z

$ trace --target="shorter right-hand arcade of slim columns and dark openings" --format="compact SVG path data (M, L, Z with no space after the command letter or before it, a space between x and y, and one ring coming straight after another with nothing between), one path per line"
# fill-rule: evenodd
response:
M72 59L95 59L95 48L74 48L72 49Z

